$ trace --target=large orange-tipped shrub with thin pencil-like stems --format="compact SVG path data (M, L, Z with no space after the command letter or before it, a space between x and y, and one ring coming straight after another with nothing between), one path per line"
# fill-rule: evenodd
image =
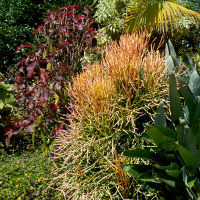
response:
M57 156L63 159L57 179L73 199L131 196L121 153L143 145L140 120L151 121L166 91L164 58L152 47L147 50L148 41L145 33L123 35L107 46L101 64L89 66L68 88L70 125L56 139Z

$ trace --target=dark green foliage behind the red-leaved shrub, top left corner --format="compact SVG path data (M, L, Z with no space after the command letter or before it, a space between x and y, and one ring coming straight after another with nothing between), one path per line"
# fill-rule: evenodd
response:
M48 10L58 10L66 5L79 4L79 11L93 0L0 0L0 71L5 73L15 66L27 51L16 52L20 44L33 44L32 31L46 17Z

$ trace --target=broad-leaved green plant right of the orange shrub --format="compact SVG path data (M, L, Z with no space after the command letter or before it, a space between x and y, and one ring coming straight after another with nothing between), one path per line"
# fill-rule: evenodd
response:
M178 82L177 90L175 75L171 73L169 92L172 123L166 120L163 103L160 103L155 124L146 125L144 138L155 146L124 152L125 156L148 160L149 164L129 164L124 169L145 185L153 188L161 185L165 191L164 197L199 199L200 77L193 70L188 84L180 77Z

